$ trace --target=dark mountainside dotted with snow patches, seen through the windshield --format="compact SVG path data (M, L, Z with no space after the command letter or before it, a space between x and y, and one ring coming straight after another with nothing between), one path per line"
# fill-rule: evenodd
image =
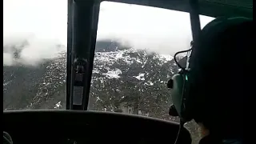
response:
M177 70L178 67L170 55L134 50L118 42L97 42L91 81L90 109L117 110L118 101L119 104L126 102L126 99L131 98L131 92L137 93L132 94L134 98L144 98L143 95L147 95L147 99L157 98L161 92L162 94L167 92L166 82ZM156 90L153 89L157 89L158 93L154 94ZM112 92L115 94L111 95ZM46 60L35 67L4 66L3 97L4 110L65 107L66 53L60 53L57 58ZM162 102L164 98L166 100L163 103L170 104L169 94L158 96L158 98ZM103 100L109 101L109 105ZM141 101L145 102L139 106L150 106L146 103L146 99ZM129 102L134 103L135 99ZM155 105L158 103L156 102Z

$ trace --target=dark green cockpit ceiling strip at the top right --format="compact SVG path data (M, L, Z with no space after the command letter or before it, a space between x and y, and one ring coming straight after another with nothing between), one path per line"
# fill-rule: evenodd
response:
M190 12L189 0L109 0L130 4L155 6L170 10ZM199 14L219 16L253 16L253 0L198 0Z

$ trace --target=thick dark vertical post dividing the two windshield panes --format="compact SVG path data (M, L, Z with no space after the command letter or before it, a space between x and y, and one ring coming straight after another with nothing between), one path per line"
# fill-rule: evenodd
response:
M68 110L87 110L90 93L90 80L94 61L99 2L94 0L73 0L71 14L72 29L68 38L68 77L67 90ZM70 3L69 3L70 4ZM68 26L70 28L70 26ZM70 30L68 28L68 30ZM71 48L70 48L71 47ZM69 63L70 62L70 63ZM71 69L71 70L69 70ZM70 73L69 73L70 72ZM67 84L69 85L69 84Z

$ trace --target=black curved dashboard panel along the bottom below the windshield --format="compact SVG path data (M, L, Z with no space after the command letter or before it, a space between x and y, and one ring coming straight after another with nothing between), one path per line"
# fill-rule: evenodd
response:
M174 143L179 125L109 112L22 110L3 112L3 130L14 143ZM185 128L179 143L191 143Z

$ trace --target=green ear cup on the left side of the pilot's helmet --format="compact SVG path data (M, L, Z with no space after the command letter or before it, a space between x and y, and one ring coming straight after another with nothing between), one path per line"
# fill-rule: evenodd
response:
M175 109L177 110L178 116L182 118L182 90L184 86L184 78L182 74L175 74L172 79L173 88L170 92L171 98L174 103Z

